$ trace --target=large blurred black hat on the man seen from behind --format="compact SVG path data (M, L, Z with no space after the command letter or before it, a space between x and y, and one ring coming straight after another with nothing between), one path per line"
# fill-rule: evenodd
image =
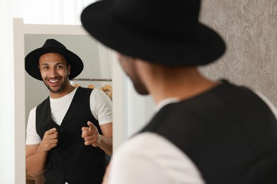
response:
M222 38L198 21L200 0L102 0L82 11L83 27L107 47L172 66L203 65L225 51Z

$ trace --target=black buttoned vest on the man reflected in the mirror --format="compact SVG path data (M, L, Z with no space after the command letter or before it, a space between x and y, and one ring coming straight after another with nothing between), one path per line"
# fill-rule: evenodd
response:
M106 169L104 151L99 147L85 146L81 137L82 127L87 127L87 121L93 122L102 134L89 108L91 92L89 88L77 88L60 126L51 118L49 97L36 108L36 132L40 138L43 139L44 133L53 127L59 133L58 146L48 151L45 183L102 183Z

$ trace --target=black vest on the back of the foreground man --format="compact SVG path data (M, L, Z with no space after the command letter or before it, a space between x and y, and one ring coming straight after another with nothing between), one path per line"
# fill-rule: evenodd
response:
M247 88L224 81L165 105L141 132L156 132L178 146L207 184L277 183L276 118Z

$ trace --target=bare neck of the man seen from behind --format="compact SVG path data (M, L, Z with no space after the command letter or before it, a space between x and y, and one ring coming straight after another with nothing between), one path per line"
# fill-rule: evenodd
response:
M196 68L169 69L148 80L148 90L156 103L167 98L185 100L210 90L219 83L202 76Z

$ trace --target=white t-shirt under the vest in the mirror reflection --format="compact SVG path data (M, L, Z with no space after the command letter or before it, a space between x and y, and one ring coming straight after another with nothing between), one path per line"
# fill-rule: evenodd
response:
M76 91L77 88L62 98L50 98L51 116L58 125L62 123ZM94 88L90 94L89 103L92 115L99 121L99 125L112 122L112 101L104 91ZM26 144L39 144L40 142L41 139L36 132L36 108L33 108L28 117Z

